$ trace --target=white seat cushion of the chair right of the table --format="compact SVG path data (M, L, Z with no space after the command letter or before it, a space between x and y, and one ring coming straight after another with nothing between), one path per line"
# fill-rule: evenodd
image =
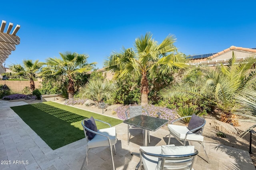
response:
M179 139L185 139L186 133L190 131L186 126L171 125L171 124L168 124L168 129L172 133L172 135L178 137ZM204 141L204 137L202 135L191 133L187 136L186 140Z

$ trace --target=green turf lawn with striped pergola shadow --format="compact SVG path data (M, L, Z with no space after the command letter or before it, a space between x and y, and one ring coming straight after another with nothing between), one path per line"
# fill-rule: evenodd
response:
M112 126L123 122L119 119L55 102L35 103L11 108L53 150L84 138L81 125L83 119L92 116L94 119L108 122ZM98 121L96 121L96 125L98 129L109 127Z

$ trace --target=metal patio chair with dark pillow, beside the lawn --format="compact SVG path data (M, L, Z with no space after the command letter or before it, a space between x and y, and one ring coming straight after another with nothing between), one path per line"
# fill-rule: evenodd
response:
M106 128L106 129L99 129L98 130L94 120L105 123L105 124L109 125L110 127ZM110 146L112 166L113 166L113 170L115 170L112 146L114 147L114 151L115 151L115 154L116 154L116 147L115 147L115 144L116 144L116 141L117 141L117 139L116 139L116 128L111 127L111 125L107 122L97 120L97 119L93 119L93 117L90 117L90 119L82 120L82 127L84 129L84 135L85 135L86 142L87 142L86 143L86 149L87 150L86 150L86 156L84 158L84 162L86 160L86 162L88 164L87 157L88 157L90 149L97 148L97 147ZM84 162L82 164L81 170L83 169Z

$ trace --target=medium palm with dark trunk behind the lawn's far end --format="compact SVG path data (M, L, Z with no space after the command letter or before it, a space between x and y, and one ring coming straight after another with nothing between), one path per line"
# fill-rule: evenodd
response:
M60 53L60 58L48 58L45 63L47 66L42 68L40 76L44 78L52 77L56 80L68 78L68 98L72 98L75 92L74 76L84 74L92 70L94 63L87 63L88 55L65 52Z

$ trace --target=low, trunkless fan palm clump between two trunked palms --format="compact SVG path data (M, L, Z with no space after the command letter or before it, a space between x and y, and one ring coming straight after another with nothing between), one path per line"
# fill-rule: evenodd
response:
M85 86L82 86L80 93L84 98L91 98L97 102L103 102L104 98L112 99L116 86L107 79L91 78Z

